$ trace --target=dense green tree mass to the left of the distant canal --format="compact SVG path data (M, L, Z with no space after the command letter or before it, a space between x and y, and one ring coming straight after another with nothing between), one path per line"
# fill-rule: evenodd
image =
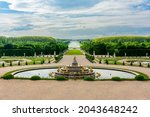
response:
M0 37L0 56L34 56L62 53L69 41L44 36Z

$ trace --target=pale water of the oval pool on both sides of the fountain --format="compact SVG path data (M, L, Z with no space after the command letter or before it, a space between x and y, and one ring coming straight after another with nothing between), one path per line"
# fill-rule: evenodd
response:
M116 70L106 70L106 69L93 69L95 72L100 73L100 79L110 79L112 77L118 76L120 78L135 78L134 74L128 73L128 72L122 72L122 71L116 71ZM52 72L56 72L57 69L40 69L40 70L31 70L31 71L25 71L18 74L15 74L15 77L25 77L30 78L34 75L38 75L41 78L50 78L49 74Z

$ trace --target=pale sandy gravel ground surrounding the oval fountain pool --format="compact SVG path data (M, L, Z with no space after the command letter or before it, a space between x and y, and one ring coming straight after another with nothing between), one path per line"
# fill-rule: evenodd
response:
M71 64L74 56L64 56L59 64ZM79 64L119 67L141 71L150 77L149 68L91 64L84 56L77 56ZM36 65L37 67L43 65ZM0 76L8 71L35 66L0 68ZM150 99L150 81L30 81L0 79L0 99Z

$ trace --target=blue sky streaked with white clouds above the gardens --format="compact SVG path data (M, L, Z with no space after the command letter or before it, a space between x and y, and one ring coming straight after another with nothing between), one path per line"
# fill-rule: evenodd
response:
M150 0L0 0L0 35L150 35Z

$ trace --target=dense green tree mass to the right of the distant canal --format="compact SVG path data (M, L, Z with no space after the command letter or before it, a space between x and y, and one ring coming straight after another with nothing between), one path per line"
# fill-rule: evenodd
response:
M81 42L81 48L89 54L117 56L150 55L149 36L114 36L103 37Z

